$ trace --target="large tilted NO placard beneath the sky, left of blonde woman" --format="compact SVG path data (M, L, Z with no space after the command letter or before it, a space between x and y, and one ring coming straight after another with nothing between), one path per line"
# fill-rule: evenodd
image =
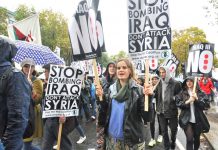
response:
M101 13L96 5L95 1L82 0L70 20L68 30L74 61L100 57L105 51Z

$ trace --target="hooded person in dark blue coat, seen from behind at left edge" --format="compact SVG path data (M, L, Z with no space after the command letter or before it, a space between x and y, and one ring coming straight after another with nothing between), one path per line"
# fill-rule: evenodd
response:
M21 150L29 119L31 87L25 75L13 67L17 48L0 35L0 146ZM1 147L0 147L1 149Z

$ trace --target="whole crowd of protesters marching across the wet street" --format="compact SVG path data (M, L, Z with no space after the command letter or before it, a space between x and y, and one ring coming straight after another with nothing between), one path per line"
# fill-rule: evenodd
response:
M156 141L163 141L165 150L175 149L178 125L186 135L186 149L197 150L200 134L209 131L204 110L209 108L211 95L216 92L210 78L200 78L194 87L194 77L180 83L170 76L169 68L161 66L158 74L144 83L142 78L137 78L127 58L110 62L100 85L95 84L94 78L84 77L79 116L42 119L51 64L43 66L45 79L42 81L36 77L35 62L31 58L21 62L21 71L13 67L16 51L9 39L0 37L0 149L2 146L5 150L52 150L56 148L59 123L64 123L60 148L71 150L68 135L74 129L80 134L77 144L87 139L80 124L83 116L86 122L96 121L97 148L106 150L143 150L146 144L154 147ZM145 96L149 100L149 113L144 111ZM150 122L149 143L145 143L147 122ZM36 137L42 138L41 147L33 146Z

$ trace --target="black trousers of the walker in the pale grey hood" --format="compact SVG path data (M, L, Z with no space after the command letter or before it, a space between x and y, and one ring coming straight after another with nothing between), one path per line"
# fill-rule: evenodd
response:
M178 118L165 118L164 114L159 115L160 126L163 135L164 149L170 150L175 149L176 146L176 135L178 127ZM171 130L171 139L169 139L168 126Z

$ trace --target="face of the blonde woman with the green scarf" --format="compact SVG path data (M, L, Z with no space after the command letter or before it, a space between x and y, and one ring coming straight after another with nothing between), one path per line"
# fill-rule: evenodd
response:
M130 76L130 68L124 61L120 61L117 63L117 78L119 80L127 80Z

